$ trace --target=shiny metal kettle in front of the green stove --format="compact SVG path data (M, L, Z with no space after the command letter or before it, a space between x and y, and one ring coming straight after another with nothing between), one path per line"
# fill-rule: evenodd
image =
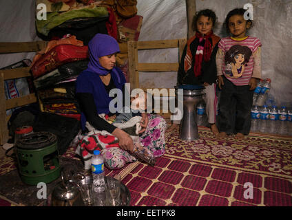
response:
M65 181L61 173L61 181L52 192L52 206L84 206L81 192L72 181Z

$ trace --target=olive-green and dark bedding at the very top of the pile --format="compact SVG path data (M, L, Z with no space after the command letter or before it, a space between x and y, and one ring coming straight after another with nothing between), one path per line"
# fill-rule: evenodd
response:
M83 3L84 2L84 3ZM91 3L90 3L91 2ZM63 38L71 34L87 45L95 34L108 34L111 23L109 11L101 7L101 1L36 0L37 5L46 5L46 19L36 17L36 32L45 41Z

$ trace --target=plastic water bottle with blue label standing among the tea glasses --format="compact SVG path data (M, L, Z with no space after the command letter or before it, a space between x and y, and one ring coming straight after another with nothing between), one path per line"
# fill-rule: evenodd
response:
M92 194L94 206L106 206L105 171L103 156L100 151L94 151L92 156Z

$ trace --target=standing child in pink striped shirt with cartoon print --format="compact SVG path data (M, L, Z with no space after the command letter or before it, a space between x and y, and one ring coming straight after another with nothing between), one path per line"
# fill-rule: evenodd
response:
M248 36L251 20L245 20L246 10L236 8L225 20L231 36L221 39L216 56L218 83L221 91L219 137L236 134L244 138L251 128L253 90L261 74L261 46L258 38Z

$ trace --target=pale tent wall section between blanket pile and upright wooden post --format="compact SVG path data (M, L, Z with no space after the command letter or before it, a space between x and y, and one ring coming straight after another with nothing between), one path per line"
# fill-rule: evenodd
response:
M182 0L140 0L138 14L143 16L139 41L187 38L187 10ZM138 51L139 63L177 63L178 50ZM176 72L140 72L140 87L173 88ZM155 78L155 80L153 80Z

